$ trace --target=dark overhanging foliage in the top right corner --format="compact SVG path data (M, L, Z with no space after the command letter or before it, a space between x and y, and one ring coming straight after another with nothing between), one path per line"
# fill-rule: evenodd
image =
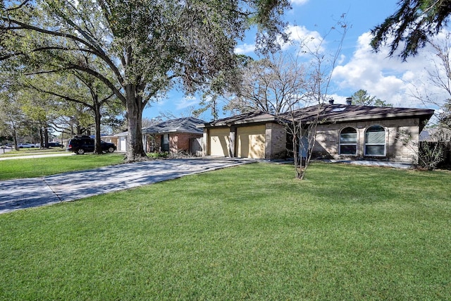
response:
M401 0L392 16L371 30L371 46L378 51L390 43L390 56L402 44L400 56L414 56L433 35L447 25L451 13L450 0ZM393 39L393 40L392 40Z

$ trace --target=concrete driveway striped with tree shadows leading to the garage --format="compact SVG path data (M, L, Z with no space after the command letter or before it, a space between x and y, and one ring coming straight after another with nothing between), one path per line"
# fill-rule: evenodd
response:
M243 159L173 159L106 166L43 178L0 181L0 214L249 163Z

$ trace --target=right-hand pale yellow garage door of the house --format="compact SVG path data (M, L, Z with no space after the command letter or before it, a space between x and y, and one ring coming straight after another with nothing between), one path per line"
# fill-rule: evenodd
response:
M265 159L265 126L237 128L237 156Z

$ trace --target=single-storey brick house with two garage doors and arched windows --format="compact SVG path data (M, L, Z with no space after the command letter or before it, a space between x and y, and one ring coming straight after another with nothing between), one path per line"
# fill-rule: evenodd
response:
M431 109L323 104L295 111L295 122L307 129L318 112L313 158L398 162L411 162L417 153L402 144L399 133L419 141L421 130L433 115ZM288 114L276 117L254 112L204 123L204 153L258 159L284 157L290 139L283 124L290 119ZM302 140L307 141L306 137ZM306 155L302 147L299 155Z

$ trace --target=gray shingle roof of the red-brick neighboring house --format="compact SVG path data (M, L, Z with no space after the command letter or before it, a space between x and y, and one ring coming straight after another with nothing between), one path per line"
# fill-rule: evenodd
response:
M205 121L194 117L185 117L163 121L147 128L142 128L142 135L166 134L166 133L190 133L202 134L203 130L197 128L197 125ZM116 136L125 136L128 132L116 134Z

